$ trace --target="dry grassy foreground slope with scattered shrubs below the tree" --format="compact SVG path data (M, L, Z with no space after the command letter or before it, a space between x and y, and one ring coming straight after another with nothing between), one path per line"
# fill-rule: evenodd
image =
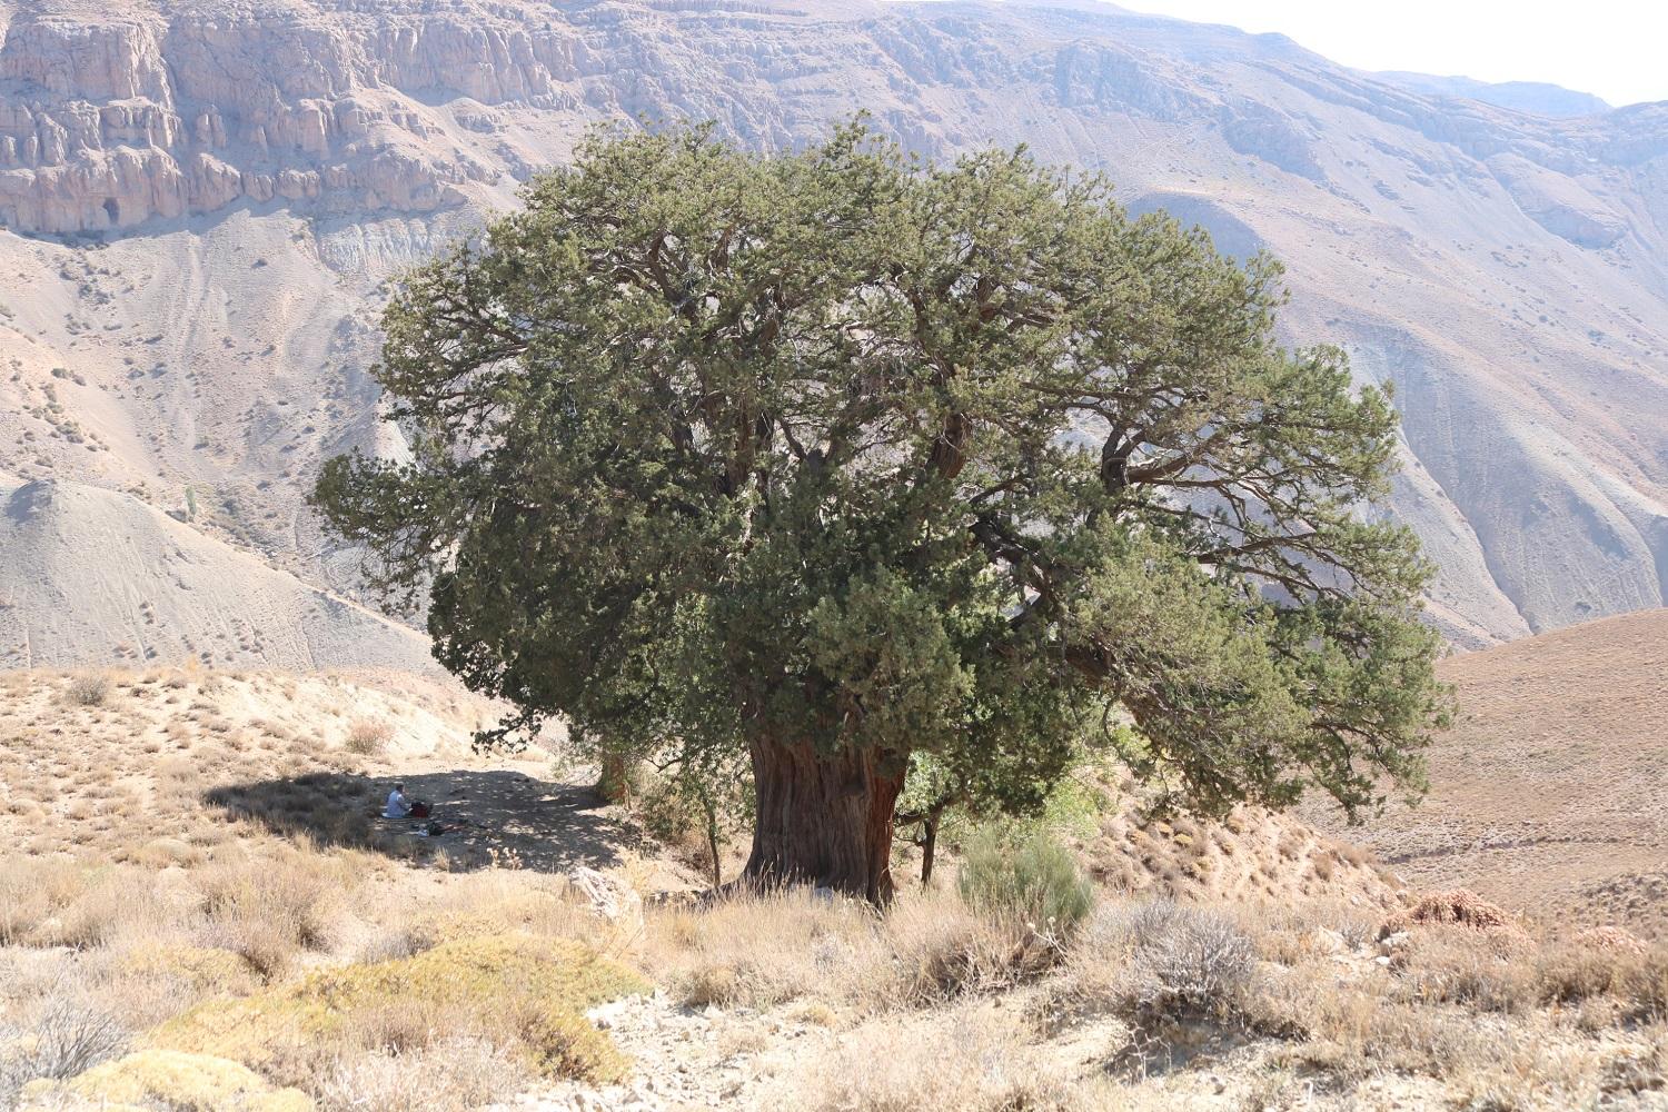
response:
M517 1094L564 1112L1565 1112L1668 1092L1661 945L1615 929L1550 935L1475 897L1401 897L1288 819L1074 814L1056 837L1103 879L1071 932L962 899L959 835L941 847L939 882L907 884L884 917L807 889L686 892L639 910L631 892L704 877L634 859L619 849L642 845L629 817L607 809L609 825L590 797L569 809L525 760L504 769L509 809L487 810L497 797L464 777L489 765L462 730L422 735L417 707L369 682L170 670L140 694L147 677L110 674L88 709L63 699L68 675L13 679L27 682L0 684L7 767L37 762L30 802L40 769L65 769L48 804L0 812L0 1087L27 1089L42 1112L475 1109ZM449 722L452 697L424 705ZM367 704L402 724L380 757L345 752ZM198 720L170 740L158 705ZM465 725L475 710L457 714ZM482 807L529 834L477 832L479 857L407 852L425 840L332 834L322 802L295 809L314 834L302 817L232 810L222 784L285 782L285 750L239 740L257 722L295 744L332 739L329 762L379 784L439 764L470 792L435 792L442 814ZM97 777L77 775L87 747L103 755ZM138 819L77 834L78 800L173 759L192 762L188 787L152 794L147 780L143 799L178 845L153 845ZM302 797L335 790L309 767L292 770ZM183 775L163 772L158 784ZM150 849L112 862L128 825ZM564 839L605 875L564 875ZM1179 872L1196 845L1218 855L1199 877ZM1323 882L1328 854L1338 869Z

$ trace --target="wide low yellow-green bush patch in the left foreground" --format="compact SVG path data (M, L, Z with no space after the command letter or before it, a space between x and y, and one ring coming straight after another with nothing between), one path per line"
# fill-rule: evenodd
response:
M234 1000L208 1000L152 1034L158 1047L254 1067L309 1049L377 1045L390 1009L400 1039L490 1039L549 1077L609 1080L626 1059L582 1012L647 990L637 974L570 940L510 934L442 942L412 957L310 974Z

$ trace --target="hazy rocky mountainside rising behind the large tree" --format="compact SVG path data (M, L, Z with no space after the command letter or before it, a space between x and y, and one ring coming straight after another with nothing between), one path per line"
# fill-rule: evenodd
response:
M1293 342L1393 382L1394 510L1481 645L1663 602L1668 107L1523 115L1111 7L0 0L0 467L350 589L300 497L379 443L379 283L592 122L761 147L857 108L1027 142L1286 258Z

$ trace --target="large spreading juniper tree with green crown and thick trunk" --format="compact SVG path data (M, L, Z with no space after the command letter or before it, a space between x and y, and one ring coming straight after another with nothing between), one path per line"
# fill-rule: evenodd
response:
M410 458L315 502L517 725L744 754L754 879L886 900L912 752L1014 807L1099 740L1353 812L1418 785L1438 642L1366 512L1394 413L1281 297L1022 152L599 133L405 278Z

